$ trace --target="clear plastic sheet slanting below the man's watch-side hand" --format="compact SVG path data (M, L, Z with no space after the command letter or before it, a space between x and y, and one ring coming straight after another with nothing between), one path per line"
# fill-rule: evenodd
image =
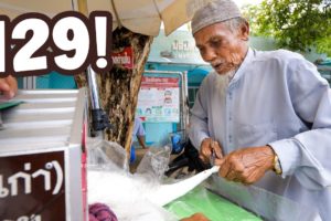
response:
M218 176L213 176L207 181L210 190L258 214L263 220L321 220L316 208L298 204L261 188L229 182Z

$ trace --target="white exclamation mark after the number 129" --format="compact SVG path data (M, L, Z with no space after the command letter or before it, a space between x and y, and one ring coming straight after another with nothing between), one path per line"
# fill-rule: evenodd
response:
M95 33L96 33L96 65L99 69L105 69L108 64L107 55L107 17L95 17Z

